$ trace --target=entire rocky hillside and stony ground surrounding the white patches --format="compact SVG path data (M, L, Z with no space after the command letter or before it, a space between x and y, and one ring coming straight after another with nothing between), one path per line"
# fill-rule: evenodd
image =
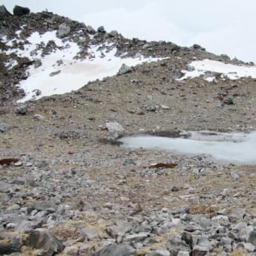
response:
M39 57L15 53L33 32L78 44L77 59L90 57L92 45L116 47L123 59L164 59L20 104L17 85L58 50L49 41L38 45ZM254 78L178 80L193 60L245 63L198 45L126 39L48 12L0 8L0 33L0 254L255 254L255 166L121 148L115 139L255 130Z

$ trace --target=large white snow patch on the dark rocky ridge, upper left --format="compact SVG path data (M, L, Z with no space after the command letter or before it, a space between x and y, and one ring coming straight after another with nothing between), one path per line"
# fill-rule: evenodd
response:
M4 38L4 41L9 47L13 44L23 44L23 47L7 50L7 54L15 53L19 57L37 60L35 66L29 67L29 77L19 84L26 92L26 96L20 102L78 90L89 81L116 75L123 63L127 66L136 66L142 62L159 59L144 56L121 58L115 56L117 48L114 44L107 43L90 45L87 50L88 56L85 59L79 59L77 56L81 48L78 44L62 41L56 37L56 31L45 32L42 35L33 32L26 41L20 39L19 31L17 39L7 41ZM44 48L50 41L53 41L56 47L45 54ZM10 59L6 66L11 68L15 63Z

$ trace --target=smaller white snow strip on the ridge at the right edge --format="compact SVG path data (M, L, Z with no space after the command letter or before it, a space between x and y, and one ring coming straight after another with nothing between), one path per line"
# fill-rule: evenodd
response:
M200 75L203 75L206 81L214 80L215 75L207 74L207 72L221 73L222 78L227 77L232 80L246 77L256 78L256 66L237 66L211 59L193 61L189 64L189 68L190 71L182 70L184 76L179 80L197 78Z

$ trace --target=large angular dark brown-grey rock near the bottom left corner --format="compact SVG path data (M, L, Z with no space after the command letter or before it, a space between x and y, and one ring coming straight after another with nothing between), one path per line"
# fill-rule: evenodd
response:
M62 242L44 228L37 228L29 234L28 246L43 250L43 255L53 255L64 249Z

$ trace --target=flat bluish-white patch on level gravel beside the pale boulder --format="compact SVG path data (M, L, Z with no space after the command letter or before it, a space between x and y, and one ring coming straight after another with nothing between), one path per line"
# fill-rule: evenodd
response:
M188 139L159 136L123 137L123 147L148 148L176 154L206 155L224 163L255 164L256 132L212 133L189 132Z

